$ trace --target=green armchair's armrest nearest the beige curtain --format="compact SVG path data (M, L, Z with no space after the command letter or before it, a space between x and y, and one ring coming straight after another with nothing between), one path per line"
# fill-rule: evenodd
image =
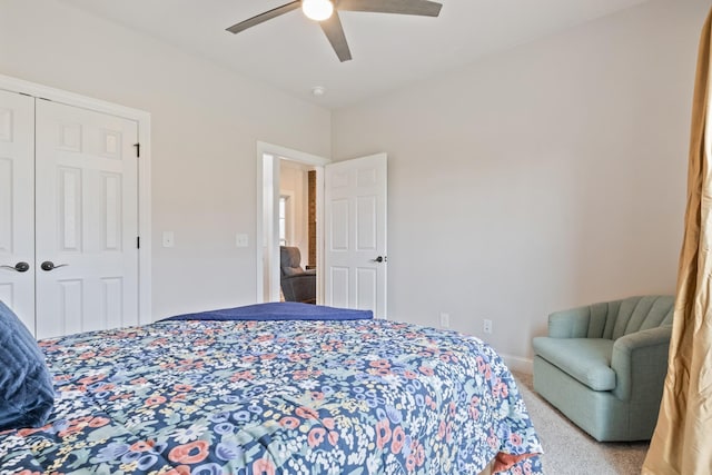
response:
M657 393L668 374L671 335L672 326L664 325L635 331L615 340L611 368L616 377L613 394L619 399L661 396Z

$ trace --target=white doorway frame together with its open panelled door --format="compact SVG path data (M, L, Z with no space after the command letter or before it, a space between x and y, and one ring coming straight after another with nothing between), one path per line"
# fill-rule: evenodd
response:
M322 157L258 142L256 301L279 301L283 159L313 167L316 189L324 192L316 198L317 304L370 309L376 318L386 318L386 154L332 164Z

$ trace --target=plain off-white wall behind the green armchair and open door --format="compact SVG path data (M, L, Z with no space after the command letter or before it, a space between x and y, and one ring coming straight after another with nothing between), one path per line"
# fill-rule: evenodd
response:
M709 8L651 1L336 111L336 159L389 156L389 316L493 319L526 365L553 310L673 293Z

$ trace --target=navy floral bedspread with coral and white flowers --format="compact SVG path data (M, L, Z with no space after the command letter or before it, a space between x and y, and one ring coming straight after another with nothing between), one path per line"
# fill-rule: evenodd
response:
M55 409L0 434L3 474L477 474L498 453L542 473L511 373L454 331L190 320L40 345Z

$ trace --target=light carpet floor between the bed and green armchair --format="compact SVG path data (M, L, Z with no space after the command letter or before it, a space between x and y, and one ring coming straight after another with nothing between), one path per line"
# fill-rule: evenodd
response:
M532 375L514 373L514 377L544 447L542 464L546 475L641 473L647 442L596 442L534 392Z

